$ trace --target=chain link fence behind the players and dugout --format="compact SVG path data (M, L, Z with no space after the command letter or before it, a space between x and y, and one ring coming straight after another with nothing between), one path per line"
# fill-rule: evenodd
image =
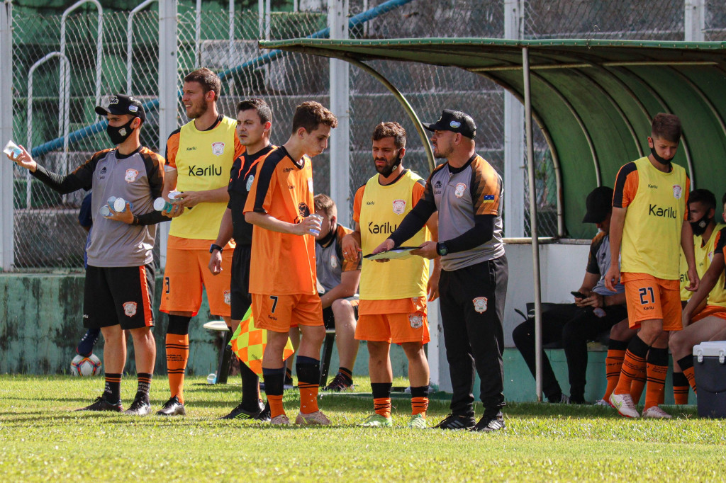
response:
M256 4L256 2L251 2ZM191 2L179 4L178 78L197 67L210 67L223 79L221 112L234 115L242 98L260 96L274 113L272 142L282 144L290 130L297 104L313 99L329 104L328 60L306 54L285 53L269 59L269 51L258 48L261 38L282 39L310 36L327 27L326 2L301 1L301 12L270 12L269 22L257 9L235 8L230 15L227 2L205 1L197 12ZM351 0L350 15L377 7L383 0ZM297 2L295 2L297 4ZM277 9L290 10L292 2L275 1ZM682 40L682 0L522 0L523 38L624 38ZM351 29L351 38L492 37L504 36L502 0L414 0ZM131 75L127 73L127 42L131 20ZM706 40L724 40L726 13L722 2L706 1ZM38 15L16 9L13 17L14 139L20 144L40 146L97 122L97 82L102 94L126 92L147 102L147 123L142 143L163 154L158 141L158 13L156 7L102 15L102 59L98 69L98 15L94 10L68 15L65 48L61 51L61 15ZM52 52L45 62L31 67ZM62 59L68 89L62 86ZM450 67L393 62L372 62L409 99L421 120L436 120L444 108L469 112L478 125L477 152L503 173L504 91L480 75ZM405 162L421 176L428 164L423 141L399 107L398 102L377 80L351 67L351 186L354 190L375 173L370 155L370 134L383 120L398 120L409 133ZM100 75L100 77L98 77ZM65 75L64 78L68 78ZM32 80L32 83L30 83ZM171 80L170 80L171 81ZM130 86L130 88L129 88ZM30 92L32 91L32 93ZM64 92L68 91L68 103ZM32 96L30 96L32 94ZM30 99L30 100L29 100ZM68 108L62 110L62 106ZM68 115L65 115L65 112ZM187 118L179 102L179 125ZM30 122L29 121L30 117ZM30 129L28 129L30 125ZM537 205L539 233L554 236L556 194L552 159L542 133L535 128ZM36 157L41 165L67 173L88 159L92 152L107 147L105 133L82 136L63 149ZM330 157L314 158L315 191L327 191ZM522 164L525 165L526 160ZM527 185L525 182L525 191ZM85 234L77 221L83 193L59 196L15 169L15 268L43 270L74 269L82 266ZM526 194L529 196L529 193ZM338 202L341 202L338 200ZM528 206L526 201L525 206ZM528 215L525 214L527 217ZM525 220L529 231L529 220Z

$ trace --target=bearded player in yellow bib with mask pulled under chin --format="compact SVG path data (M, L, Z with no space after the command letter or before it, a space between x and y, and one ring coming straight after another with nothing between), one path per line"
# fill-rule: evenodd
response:
M361 186L354 198L354 232L343 241L343 256L357 261L368 254L419 202L424 181L404 168L406 130L395 122L380 123L372 135L373 162L378 172ZM418 246L436 233L436 217L409 238ZM423 228L423 229L421 229ZM410 257L378 263L363 259L356 339L368 344L368 371L375 413L363 426L391 426L391 342L399 344L409 363L412 415L410 428L426 427L428 410L428 360L423 346L430 340L426 317L427 292L436 291L439 271L429 283L428 260ZM435 298L435 297L433 297Z

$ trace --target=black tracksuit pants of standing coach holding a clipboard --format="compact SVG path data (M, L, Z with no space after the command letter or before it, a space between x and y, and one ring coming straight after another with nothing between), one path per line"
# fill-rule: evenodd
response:
M494 416L504 403L504 304L507 257L441 271L439 294L446 359L452 379L452 414L473 416L474 371L481 379L484 415Z

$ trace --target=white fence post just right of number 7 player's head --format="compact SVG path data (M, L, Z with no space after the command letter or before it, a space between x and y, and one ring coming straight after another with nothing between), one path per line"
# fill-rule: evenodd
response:
M330 38L348 38L348 0L327 0ZM350 226L350 83L348 62L330 59L330 110L338 128L330 135L330 197L338 205L338 222Z

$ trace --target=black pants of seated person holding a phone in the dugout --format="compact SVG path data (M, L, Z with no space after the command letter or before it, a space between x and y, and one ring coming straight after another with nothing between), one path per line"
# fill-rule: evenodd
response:
M561 342L567 358L570 380L570 399L584 402L587 373L587 342L627 318L625 305L603 307L605 315L597 317L592 307L574 304L555 305L542 313L542 344ZM534 318L528 318L512 332L514 344L521 352L532 376L535 373ZM550 402L560 402L562 389L555 377L550 360L542 350L542 392Z

